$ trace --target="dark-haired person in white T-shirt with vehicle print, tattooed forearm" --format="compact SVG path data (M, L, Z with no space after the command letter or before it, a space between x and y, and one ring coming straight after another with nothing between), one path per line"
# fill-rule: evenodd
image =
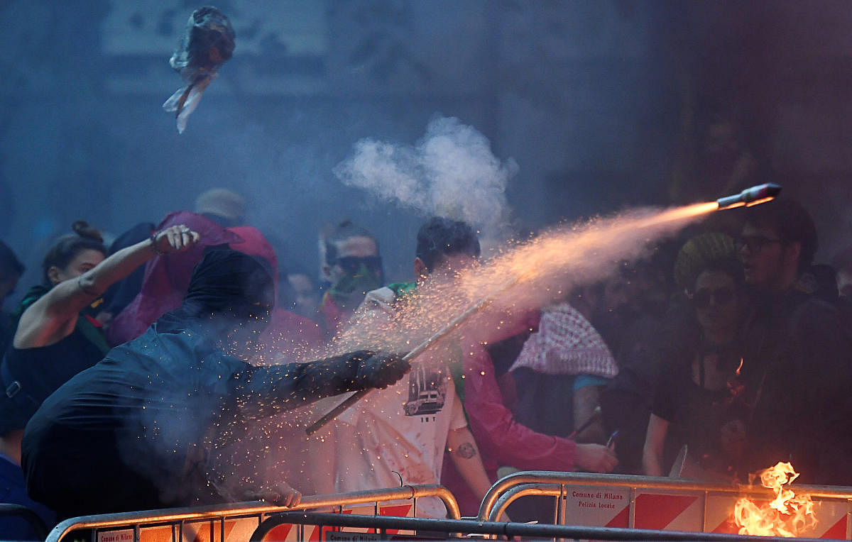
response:
M444 217L427 220L417 231L413 262L416 280L394 282L368 292L354 313L352 327L336 338L337 347L348 350L356 344L383 343L415 331L402 320L415 327L428 326L430 322L412 322L412 314L420 318L426 315L412 312L410 304L417 303L417 296L424 291L446 289L458 279L459 272L476 265L479 254L479 239L470 225ZM363 262L359 265L362 270L365 266ZM314 480L318 493L393 488L400 482L440 483L446 455L448 462L456 465L461 485L481 502L492 482L465 417L456 379L452 378L453 374L461 378L457 370L463 357L460 344L461 339L452 338L435 345L417 358L408 378L371 393L340 414L325 433L316 435L328 442L327 448L313 451L316 464L310 470L325 475ZM439 499L418 499L417 516L445 517L446 510Z

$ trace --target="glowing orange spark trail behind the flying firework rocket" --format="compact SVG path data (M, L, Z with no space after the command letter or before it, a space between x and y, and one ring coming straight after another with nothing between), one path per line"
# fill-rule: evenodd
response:
M325 355L359 349L412 351L485 299L490 306L465 315L467 320L454 336L464 337L462 342L468 344L490 342L511 329L515 318L558 300L574 286L607 277L619 262L640 257L651 242L717 209L716 202L664 211L638 209L557 228L509 247L482 265L435 272L392 311L357 313ZM430 348L417 361L446 358L446 351L436 350L442 351Z

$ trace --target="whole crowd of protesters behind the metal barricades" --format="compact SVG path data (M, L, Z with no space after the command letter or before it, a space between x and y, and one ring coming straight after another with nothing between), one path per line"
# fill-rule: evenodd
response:
M109 247L78 221L0 322L3 502L50 525L440 483L475 515L511 471L748 482L788 460L803 482L852 485L852 258L815 265L793 200L724 213L411 364L404 348L305 352L353 322L392 334L417 292L488 265L473 225L426 220L410 281L388 283L351 220L320 232L318 277L279 265L222 189ZM23 270L0 244L3 298ZM314 436L292 423L373 388ZM530 503L509 516L549 516Z

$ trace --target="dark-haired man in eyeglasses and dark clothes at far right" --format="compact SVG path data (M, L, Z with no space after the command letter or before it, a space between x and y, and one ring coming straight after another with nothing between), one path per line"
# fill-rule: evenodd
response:
M743 374L757 390L751 470L792 461L803 482L852 484L852 337L837 306L802 280L814 221L792 200L749 208L736 247L755 307L743 335Z

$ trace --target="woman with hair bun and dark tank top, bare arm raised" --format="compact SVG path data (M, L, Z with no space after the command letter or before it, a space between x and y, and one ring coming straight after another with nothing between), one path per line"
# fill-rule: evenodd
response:
M83 220L72 228L45 254L43 283L15 311L12 346L0 363L0 454L16 465L24 426L44 399L109 350L95 320L101 294L155 255L199 240L186 225L174 225L107 257L100 231Z

